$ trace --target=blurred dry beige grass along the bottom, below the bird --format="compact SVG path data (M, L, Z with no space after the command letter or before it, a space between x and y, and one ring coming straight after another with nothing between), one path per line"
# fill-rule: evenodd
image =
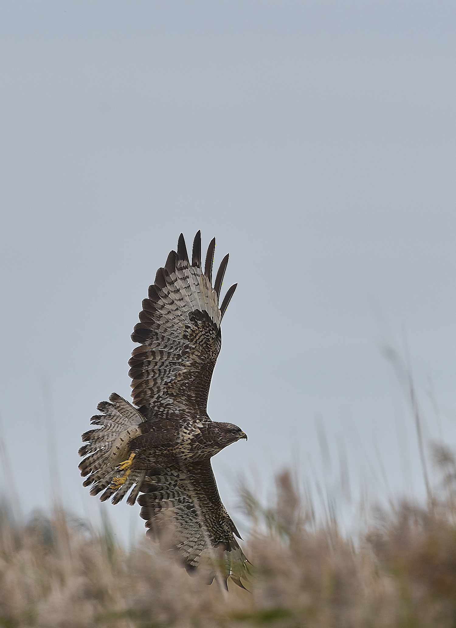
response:
M144 540L126 553L102 532L56 511L0 524L0 625L5 627L454 627L456 465L435 448L440 497L427 507L379 512L368 533L344 538L315 524L292 476L277 478L276 503L262 509L242 490L252 521L246 553L252 593L225 595L204 574L189 577Z

